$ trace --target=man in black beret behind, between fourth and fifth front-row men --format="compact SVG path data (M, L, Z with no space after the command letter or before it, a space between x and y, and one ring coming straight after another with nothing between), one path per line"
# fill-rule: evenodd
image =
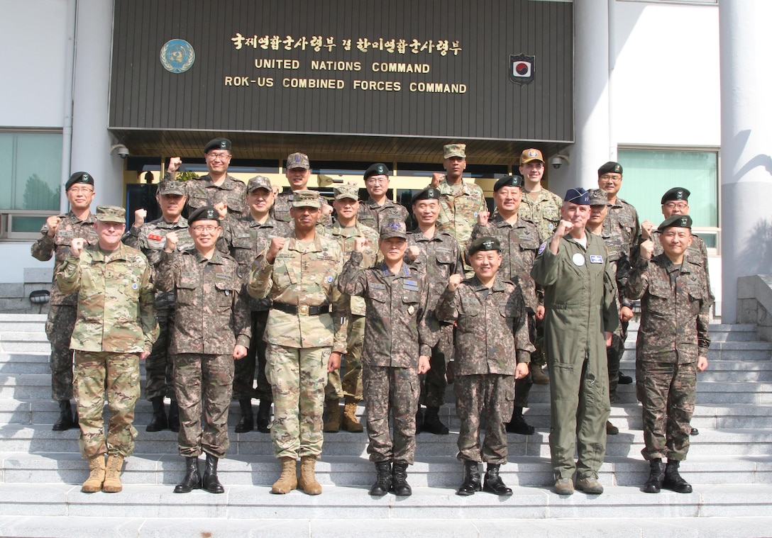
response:
M421 379L421 400L415 417L415 432L447 435L449 430L439 419L439 409L445 403L447 361L453 356L453 324L439 321L434 313L435 304L445 291L452 274L464 274L459 243L447 232L437 230L440 192L434 187L422 190L413 197L413 215L418 230L408 234L408 261L418 268L429 287L428 324L437 333L437 344L432 346L431 368ZM426 405L425 415L421 405Z

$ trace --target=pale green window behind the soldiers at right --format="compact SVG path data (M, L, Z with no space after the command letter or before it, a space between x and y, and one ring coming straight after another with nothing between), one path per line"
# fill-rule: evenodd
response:
M699 237L716 254L719 237L717 150L620 149L624 183L621 197L632 203L641 220L662 222L662 194L672 187L686 187L689 216Z

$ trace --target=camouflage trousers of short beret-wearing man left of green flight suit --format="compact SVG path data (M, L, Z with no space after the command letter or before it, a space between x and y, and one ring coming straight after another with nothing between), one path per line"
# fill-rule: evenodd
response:
M459 375L453 382L455 414L461 420L459 453L464 461L506 463L506 426L514 409L514 375ZM480 422L485 419L485 440L480 443Z

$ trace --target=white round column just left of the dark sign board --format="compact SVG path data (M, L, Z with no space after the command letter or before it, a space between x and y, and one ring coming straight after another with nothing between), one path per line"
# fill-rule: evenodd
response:
M110 155L107 132L113 2L78 0L73 75L73 148L71 172L93 174L100 204L124 205L124 163Z

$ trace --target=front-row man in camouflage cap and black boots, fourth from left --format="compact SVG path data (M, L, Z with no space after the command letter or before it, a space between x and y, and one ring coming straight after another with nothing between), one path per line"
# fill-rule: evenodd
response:
M338 287L348 295L364 297L362 380L367 395L367 452L375 463L374 496L393 490L412 493L408 465L415 457L415 413L420 392L418 375L429 369L429 354L436 342L426 324L428 284L415 267L405 264L408 247L405 223L384 222L378 248L384 260L360 269L366 240L358 237ZM394 437L389 435L389 412ZM393 466L392 466L393 462Z

